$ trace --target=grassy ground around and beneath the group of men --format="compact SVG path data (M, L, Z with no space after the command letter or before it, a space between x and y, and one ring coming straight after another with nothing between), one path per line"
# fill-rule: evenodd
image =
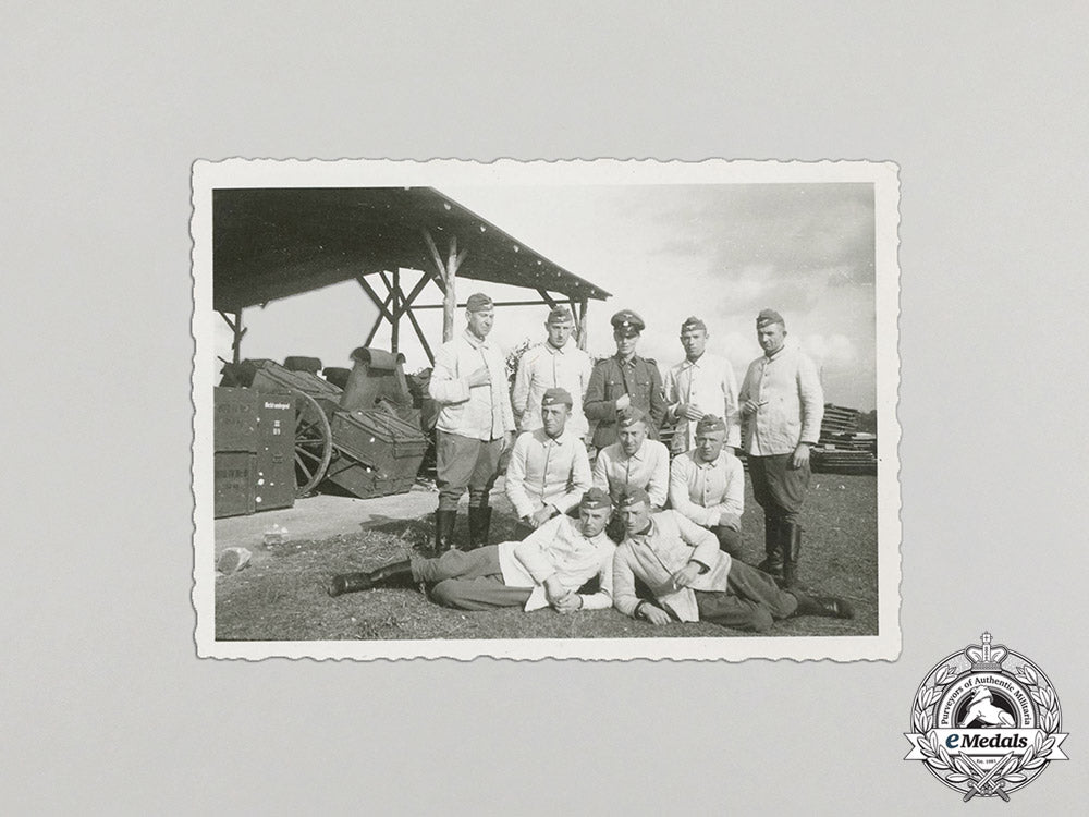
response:
M878 632L877 478L815 474L803 520L802 582L813 593L843 596L853 620L797 618L767 635L842 636ZM497 507L491 541L510 537L514 519ZM762 558L763 515L746 486L742 533L746 561ZM457 535L464 537L464 512ZM339 598L326 595L334 573L371 570L425 552L429 517L386 523L351 536L292 541L256 566L216 581L218 641L323 641L409 638L594 638L744 636L715 624L656 627L615 610L560 615L521 609L462 612L432 603L411 589L377 589Z

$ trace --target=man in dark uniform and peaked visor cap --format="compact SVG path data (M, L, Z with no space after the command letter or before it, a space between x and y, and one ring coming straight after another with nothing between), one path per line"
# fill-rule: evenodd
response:
M595 364L583 401L587 419L598 423L594 429L594 446L598 450L616 441L616 412L631 405L648 415L648 436L657 440L666 410L658 364L635 353L639 333L646 326L643 318L631 309L621 309L611 322L616 354Z

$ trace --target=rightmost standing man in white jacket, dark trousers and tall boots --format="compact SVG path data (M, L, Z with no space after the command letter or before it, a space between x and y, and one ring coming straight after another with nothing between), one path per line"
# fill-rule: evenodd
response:
M748 454L752 495L763 507L764 551L760 570L795 583L802 550L802 502L809 487L809 448L820 438L824 392L800 349L785 346L786 325L762 309L756 333L763 355L749 364L738 395L742 446Z

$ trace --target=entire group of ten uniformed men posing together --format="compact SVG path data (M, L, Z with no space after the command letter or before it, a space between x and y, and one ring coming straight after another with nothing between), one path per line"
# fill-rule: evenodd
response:
M613 315L616 354L594 364L574 341L571 310L556 306L512 390L505 356L488 340L491 298L469 296L465 317L464 333L436 356L429 386L441 406L437 556L334 576L330 595L416 586L463 610L615 607L656 625L710 621L755 632L792 615L853 615L847 601L811 595L797 577L799 512L824 401L812 362L785 344L779 313L757 316L763 354L741 389L729 361L706 351L699 318L682 325L685 358L663 382L658 364L637 354L645 324L634 312ZM670 425L672 450L660 441ZM737 449L764 512L756 566L742 559ZM507 452L516 539L489 545L490 495ZM466 489L468 536L456 544Z

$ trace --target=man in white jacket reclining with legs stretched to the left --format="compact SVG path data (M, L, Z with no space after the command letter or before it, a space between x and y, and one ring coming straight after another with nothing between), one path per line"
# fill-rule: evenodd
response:
M431 586L432 600L460 610L604 610L612 606L616 549L604 534L611 512L609 495L591 488L579 502L577 520L555 516L522 541L449 550L438 559L413 557L370 573L344 573L333 577L329 595L424 584Z

